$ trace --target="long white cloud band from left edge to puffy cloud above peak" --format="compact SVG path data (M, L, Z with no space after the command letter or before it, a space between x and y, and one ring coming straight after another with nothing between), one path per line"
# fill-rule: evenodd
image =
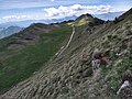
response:
M54 0L53 0L54 1ZM0 22L14 22L14 21L25 21L25 20L52 20L52 19L63 19L66 16L79 16L85 13L100 14L107 13L111 10L110 6L81 6L74 4L70 7L61 6L58 8L46 8L42 10L42 13L35 14L13 14L0 18Z

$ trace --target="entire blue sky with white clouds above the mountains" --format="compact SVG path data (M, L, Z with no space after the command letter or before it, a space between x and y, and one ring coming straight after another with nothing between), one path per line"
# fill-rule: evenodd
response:
M0 0L0 23L127 11L132 0Z

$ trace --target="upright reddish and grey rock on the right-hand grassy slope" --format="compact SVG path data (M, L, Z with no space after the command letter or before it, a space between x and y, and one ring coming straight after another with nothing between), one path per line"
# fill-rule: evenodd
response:
M102 58L102 53L98 48L95 50L95 52L92 54L92 61L91 61L91 66L92 66L94 74L99 68L100 63L101 63L101 58Z

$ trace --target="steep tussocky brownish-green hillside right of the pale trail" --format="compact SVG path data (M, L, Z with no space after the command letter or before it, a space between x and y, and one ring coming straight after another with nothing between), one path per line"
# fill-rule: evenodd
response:
M91 33L87 22L75 22L75 34L68 47L1 99L132 99L131 87L117 95L127 79L124 73L132 72L131 15L95 25ZM108 58L108 64L101 64L92 74L90 63L96 48Z

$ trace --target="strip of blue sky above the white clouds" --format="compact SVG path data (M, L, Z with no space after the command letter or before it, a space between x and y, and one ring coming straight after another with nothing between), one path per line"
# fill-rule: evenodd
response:
M132 0L0 0L0 9L34 8L34 7L58 7L72 4L106 6L125 9L132 7Z

